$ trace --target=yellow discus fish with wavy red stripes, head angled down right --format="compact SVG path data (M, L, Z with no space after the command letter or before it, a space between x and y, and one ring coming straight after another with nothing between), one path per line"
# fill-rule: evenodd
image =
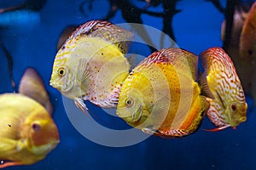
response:
M207 116L217 126L212 131L235 128L247 119L247 103L236 68L222 48L208 48L201 53L201 59L215 98L207 99L211 104Z

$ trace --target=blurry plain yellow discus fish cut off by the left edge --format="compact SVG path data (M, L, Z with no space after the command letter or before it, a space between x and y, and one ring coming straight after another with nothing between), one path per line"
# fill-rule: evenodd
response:
M1 94L0 117L0 168L33 164L59 143L49 113L23 94Z

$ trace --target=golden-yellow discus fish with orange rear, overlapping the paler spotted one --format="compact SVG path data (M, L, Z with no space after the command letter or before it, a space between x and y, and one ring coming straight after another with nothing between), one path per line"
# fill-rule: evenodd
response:
M180 48L149 55L125 79L117 115L132 127L163 138L194 133L209 107L195 82L197 64L195 54Z

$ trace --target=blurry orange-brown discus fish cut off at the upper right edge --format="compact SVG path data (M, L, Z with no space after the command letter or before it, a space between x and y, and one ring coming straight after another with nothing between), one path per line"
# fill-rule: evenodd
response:
M256 61L256 2L250 8L241 30L239 50L241 59Z

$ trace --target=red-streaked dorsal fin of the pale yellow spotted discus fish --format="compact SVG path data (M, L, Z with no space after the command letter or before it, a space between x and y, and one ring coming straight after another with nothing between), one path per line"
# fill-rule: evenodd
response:
M116 44L122 54L126 54L129 44L133 39L131 31L127 31L119 26L104 20L91 20L73 32L68 41L78 37L100 37L110 43Z

